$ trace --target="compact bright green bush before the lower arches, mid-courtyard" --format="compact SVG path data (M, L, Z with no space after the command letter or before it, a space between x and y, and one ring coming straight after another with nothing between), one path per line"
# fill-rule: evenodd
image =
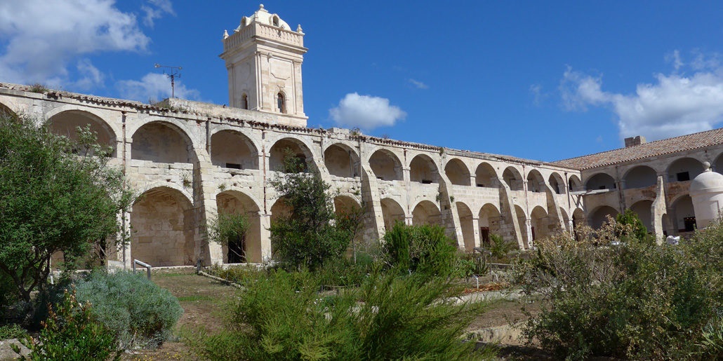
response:
M384 258L401 272L446 277L455 271L457 247L438 225L410 226L397 222L384 235Z

